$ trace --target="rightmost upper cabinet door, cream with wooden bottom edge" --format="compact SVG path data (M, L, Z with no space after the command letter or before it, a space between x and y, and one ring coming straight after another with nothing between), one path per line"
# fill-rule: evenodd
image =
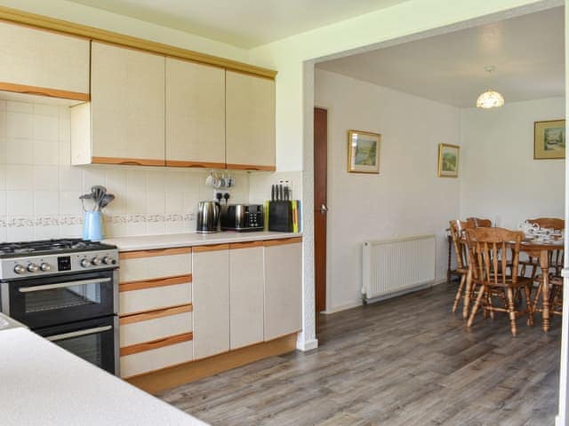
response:
M275 170L275 82L226 71L228 169Z

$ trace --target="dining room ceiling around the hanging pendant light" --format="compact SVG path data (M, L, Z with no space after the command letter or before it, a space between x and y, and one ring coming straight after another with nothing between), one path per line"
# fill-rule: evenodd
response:
M531 13L317 64L453 106L488 88L506 102L565 96L564 10ZM485 66L496 67L492 75Z

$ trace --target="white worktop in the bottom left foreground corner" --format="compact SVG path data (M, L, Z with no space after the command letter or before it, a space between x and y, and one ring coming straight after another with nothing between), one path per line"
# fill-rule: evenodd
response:
M0 331L3 426L204 426L26 328Z

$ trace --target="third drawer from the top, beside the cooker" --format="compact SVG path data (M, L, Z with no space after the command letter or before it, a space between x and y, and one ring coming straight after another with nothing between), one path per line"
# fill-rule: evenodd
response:
M121 348L192 331L192 305L140 313L120 320Z

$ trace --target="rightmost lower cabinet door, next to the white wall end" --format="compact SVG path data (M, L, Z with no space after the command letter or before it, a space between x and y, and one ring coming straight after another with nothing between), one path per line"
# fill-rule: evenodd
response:
M301 330L301 238L265 241L265 341Z

